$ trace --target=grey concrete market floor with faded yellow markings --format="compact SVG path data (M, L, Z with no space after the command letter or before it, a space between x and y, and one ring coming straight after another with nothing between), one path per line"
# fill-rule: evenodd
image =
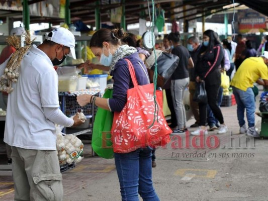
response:
M229 132L209 132L203 148L194 147L193 136L189 148L175 148L180 137L185 145L184 134L173 137L172 147L170 143L156 150L153 182L160 200L268 200L267 140L238 134L236 106L222 112ZM259 121L256 116L255 122ZM191 119L187 125L193 123ZM208 139L218 140L219 146L213 148ZM84 157L74 169L63 172L63 200L121 200L114 160L91 157L90 144L85 144ZM13 199L12 177L0 177L0 200Z

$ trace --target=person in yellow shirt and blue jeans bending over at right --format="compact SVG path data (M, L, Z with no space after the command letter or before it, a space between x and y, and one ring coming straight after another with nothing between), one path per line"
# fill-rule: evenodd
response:
M252 87L254 82L263 86L268 86L267 64L267 51L264 51L263 55L260 57L249 57L245 59L230 83L237 104L237 118L240 126L240 133L246 133L253 137L259 137L259 134L255 129L255 99ZM262 80L260 80L260 78ZM245 109L248 129L244 120Z

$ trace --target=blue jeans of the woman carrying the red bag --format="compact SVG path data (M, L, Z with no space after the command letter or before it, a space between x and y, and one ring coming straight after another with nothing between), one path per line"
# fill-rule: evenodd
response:
M139 148L130 153L115 153L115 165L123 201L158 201L152 184L152 149Z

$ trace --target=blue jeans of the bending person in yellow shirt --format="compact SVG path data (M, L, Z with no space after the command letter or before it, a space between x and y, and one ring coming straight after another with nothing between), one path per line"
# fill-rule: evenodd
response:
M244 113L246 109L246 119L248 122L248 127L253 127L255 125L255 100L254 93L251 87L248 87L246 91L232 86L233 94L237 104L237 118L239 126L245 124Z

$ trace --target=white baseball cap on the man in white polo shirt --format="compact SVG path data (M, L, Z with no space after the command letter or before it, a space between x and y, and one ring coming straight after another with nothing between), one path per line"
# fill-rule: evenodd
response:
M51 35L51 33L52 36L48 37ZM70 53L68 54L68 56L72 57L73 59L76 59L74 50L75 38L74 35L68 29L63 27L54 29L52 32L48 34L48 36L46 37L47 40L69 47Z

